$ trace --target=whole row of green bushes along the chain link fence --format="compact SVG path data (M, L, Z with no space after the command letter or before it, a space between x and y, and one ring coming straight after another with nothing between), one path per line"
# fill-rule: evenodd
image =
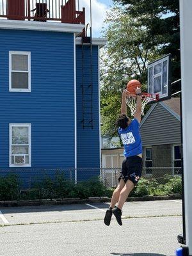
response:
M182 194L181 177L164 176L164 184L159 184L156 179L141 178L138 185L132 190L130 196ZM33 188L20 194L20 182L17 175L0 177L0 200L28 200L42 198L88 198L90 196L113 195L113 188L105 188L99 178L74 184L65 179L63 173L56 173L53 178L45 176L41 182L33 184Z

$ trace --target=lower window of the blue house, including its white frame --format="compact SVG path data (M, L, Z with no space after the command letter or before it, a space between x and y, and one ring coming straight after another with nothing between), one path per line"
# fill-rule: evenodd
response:
M10 124L12 166L31 166L31 124Z

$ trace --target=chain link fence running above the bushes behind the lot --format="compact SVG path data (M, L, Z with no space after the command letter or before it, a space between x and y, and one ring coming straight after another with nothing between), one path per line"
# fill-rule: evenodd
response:
M40 184L45 179L51 179L57 182L61 175L63 179L70 180L74 183L99 177L106 188L115 188L118 186L120 170L120 168L14 168L1 169L0 177L16 174L19 179L20 189L33 189L36 184ZM156 179L159 184L164 184L165 175L181 175L181 168L143 168L142 177Z

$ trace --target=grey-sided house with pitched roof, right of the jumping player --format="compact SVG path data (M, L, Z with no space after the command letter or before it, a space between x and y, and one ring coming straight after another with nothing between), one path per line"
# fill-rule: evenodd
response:
M155 177L180 174L180 99L153 104L141 121L140 132L143 173Z

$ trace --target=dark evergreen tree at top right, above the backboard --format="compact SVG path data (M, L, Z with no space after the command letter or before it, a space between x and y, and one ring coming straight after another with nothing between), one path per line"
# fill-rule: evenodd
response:
M157 47L159 55L172 54L172 81L180 79L179 0L114 0L125 13L137 18L147 31L146 47Z

